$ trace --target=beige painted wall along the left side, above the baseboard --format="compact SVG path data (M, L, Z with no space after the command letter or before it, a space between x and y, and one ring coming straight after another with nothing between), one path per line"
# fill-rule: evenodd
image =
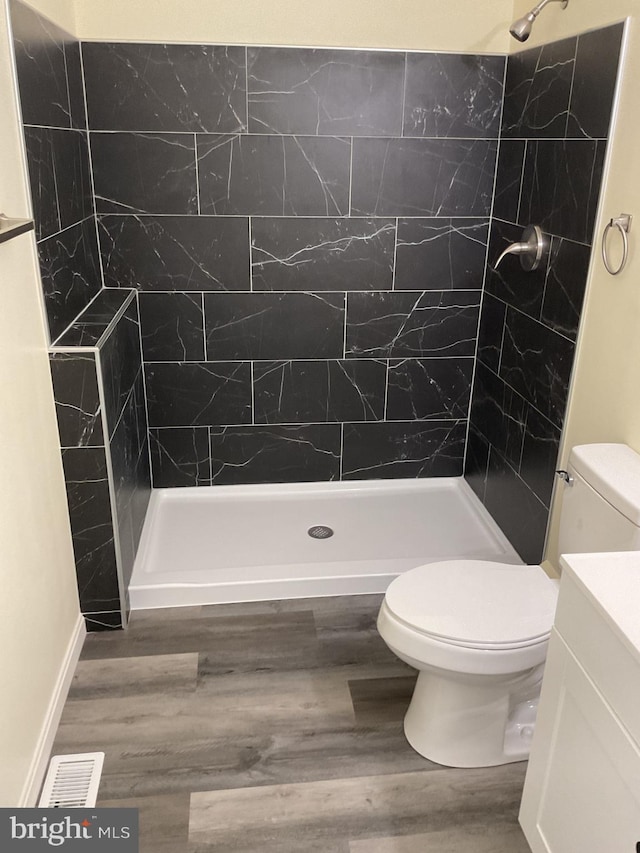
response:
M28 216L4 3L0 201ZM0 244L0 806L24 803L79 619L33 236Z

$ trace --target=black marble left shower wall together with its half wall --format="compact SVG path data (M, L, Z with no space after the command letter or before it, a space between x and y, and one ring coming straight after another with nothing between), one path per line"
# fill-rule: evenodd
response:
M80 45L11 16L80 606L115 628L150 496L138 307L101 289Z

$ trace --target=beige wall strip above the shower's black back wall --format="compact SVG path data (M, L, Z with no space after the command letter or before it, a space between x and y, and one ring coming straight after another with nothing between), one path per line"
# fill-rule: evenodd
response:
M506 52L512 0L76 0L75 13L83 39Z

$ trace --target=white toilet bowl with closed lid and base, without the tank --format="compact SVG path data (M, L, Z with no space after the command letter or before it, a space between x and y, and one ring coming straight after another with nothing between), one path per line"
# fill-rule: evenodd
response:
M527 758L556 599L540 566L480 560L391 583L378 631L419 672L404 722L417 752L452 767Z

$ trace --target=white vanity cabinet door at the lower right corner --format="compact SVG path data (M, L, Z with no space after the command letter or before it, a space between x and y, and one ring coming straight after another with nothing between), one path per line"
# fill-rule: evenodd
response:
M527 841L534 853L636 853L640 751L557 634L550 663L520 811Z

